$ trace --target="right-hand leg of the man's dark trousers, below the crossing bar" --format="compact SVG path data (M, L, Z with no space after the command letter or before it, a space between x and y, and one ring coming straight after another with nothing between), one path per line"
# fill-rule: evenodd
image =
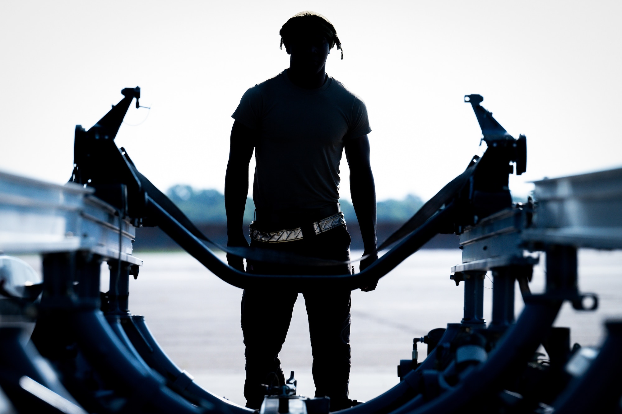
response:
M304 294L313 354L315 396L331 411L345 408L350 382L350 291Z

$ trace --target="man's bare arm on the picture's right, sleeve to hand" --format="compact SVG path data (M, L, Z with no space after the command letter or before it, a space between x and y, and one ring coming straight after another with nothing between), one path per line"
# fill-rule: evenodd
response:
M362 136L346 141L346 159L350 165L350 195L356 211L356 218L363 236L364 254L361 260L363 270L378 259L376 241L376 186L369 163L369 139Z

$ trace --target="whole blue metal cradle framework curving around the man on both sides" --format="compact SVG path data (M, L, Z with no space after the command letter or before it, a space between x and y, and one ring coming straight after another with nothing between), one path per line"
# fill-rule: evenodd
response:
M514 139L481 106L483 98L471 94L465 102L480 123L485 154L472 157L465 172L381 244L393 246L381 259L355 275L246 274L221 262L211 250L219 246L114 144L133 99L138 106L140 89L126 88L122 94L91 129L77 126L67 185L0 173L0 249L42 254L44 269L43 282L27 286L10 272L0 272L0 313L3 320L14 319L14 326L0 326L0 402L17 412L251 411L196 384L162 351L144 317L129 311L129 277L137 277L142 265L132 255L134 229L159 226L231 285L299 291L375 286L436 234L460 235L462 263L452 268L451 279L464 285L462 321L422 338L429 347L427 358L419 363L414 352L412 361L402 360L396 387L340 413L620 412L620 321L608 321L608 338L581 372L572 368L582 354L570 349L569 330L552 324L564 301L578 310L598 306L595 293L578 291L577 249L622 248L622 169L542 180L536 182L535 200L513 203L508 176L526 171L526 137ZM253 260L332 264L221 248ZM539 259L526 251L545 252L547 285L540 295L529 290ZM106 293L99 288L104 261L110 269ZM493 314L487 323L483 278L489 271ZM518 319L517 282L525 302ZM22 338L33 323L27 344ZM541 344L548 363L533 360ZM288 390L267 398L261 411L327 412L321 398L304 399Z

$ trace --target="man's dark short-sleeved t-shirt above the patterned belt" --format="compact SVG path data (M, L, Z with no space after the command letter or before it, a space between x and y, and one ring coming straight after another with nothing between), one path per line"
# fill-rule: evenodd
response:
M232 117L258 131L253 200L269 210L337 203L343 145L371 132L365 104L339 81L307 90L287 70L247 90Z

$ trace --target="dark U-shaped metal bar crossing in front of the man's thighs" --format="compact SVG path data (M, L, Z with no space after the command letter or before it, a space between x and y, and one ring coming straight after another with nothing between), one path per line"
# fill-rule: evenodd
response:
M160 228L168 234L185 251L190 253L201 264L211 270L216 276L220 277L230 285L239 288L266 287L276 284L280 287L287 287L292 290L317 289L330 284L331 288L347 288L354 290L368 286L371 281L376 281L388 274L394 267L400 264L420 249L427 241L434 237L443 224L452 219L455 209L453 203L447 208L427 220L417 231L406 237L402 242L393 247L391 251L376 260L356 275L258 275L240 272L229 265L223 263L214 252L203 244L197 236L188 231L182 224L173 218L156 201L147 196L147 210L157 218Z

